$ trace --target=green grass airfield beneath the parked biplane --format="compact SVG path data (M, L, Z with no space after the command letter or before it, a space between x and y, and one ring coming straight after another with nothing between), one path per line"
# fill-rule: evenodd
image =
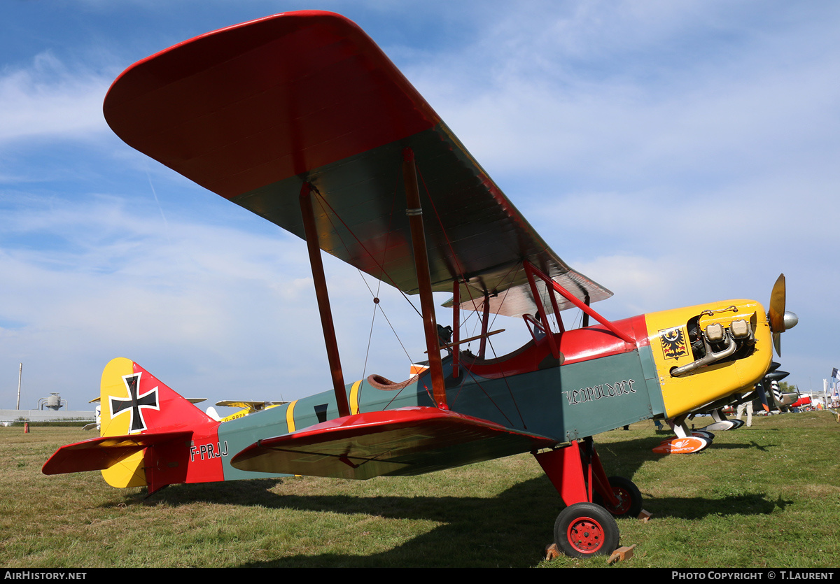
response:
M708 419L704 419L708 420ZM709 449L659 456L650 422L596 436L652 518L620 519L622 567L832 567L840 563L840 424L829 413L753 419ZM699 420L697 420L699 421ZM151 497L98 472L46 477L78 428L0 428L6 567L603 567L543 560L562 500L533 456L422 477L312 477L173 485Z

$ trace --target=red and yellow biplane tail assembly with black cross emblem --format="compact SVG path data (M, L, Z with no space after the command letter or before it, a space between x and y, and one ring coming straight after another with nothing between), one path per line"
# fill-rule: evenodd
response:
M119 357L105 366L99 402L100 437L62 446L45 474L101 470L112 487L150 492L171 482L223 480L220 467L202 468L201 480L187 470L194 433L212 433L218 422L137 363Z

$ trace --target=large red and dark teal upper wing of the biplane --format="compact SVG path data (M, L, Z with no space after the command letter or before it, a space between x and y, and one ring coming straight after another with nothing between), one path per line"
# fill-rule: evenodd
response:
M298 237L308 182L319 193L320 247L409 294L417 277L401 163L411 148L433 289L451 291L457 279L467 309L487 293L500 299L493 312L533 311L527 259L581 300L612 295L549 249L379 47L338 14L277 14L161 51L114 81L104 112L135 149Z

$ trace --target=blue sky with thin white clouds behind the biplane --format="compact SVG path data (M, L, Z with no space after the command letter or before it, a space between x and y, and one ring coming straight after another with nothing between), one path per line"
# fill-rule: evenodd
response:
M0 3L0 407L14 407L19 362L24 408L56 391L85 408L112 357L213 401L329 387L303 243L102 118L134 61L306 8L381 45L560 257L615 292L596 305L607 317L766 303L784 272L801 322L783 369L822 388L840 366L840 4L510 6ZM381 290L406 351L377 316L368 354L370 292L355 270L327 270L345 378L406 378L423 358L417 315Z

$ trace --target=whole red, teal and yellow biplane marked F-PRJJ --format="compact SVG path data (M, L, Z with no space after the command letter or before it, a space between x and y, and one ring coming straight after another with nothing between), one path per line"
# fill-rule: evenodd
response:
M609 553L613 516L638 516L642 500L633 482L606 476L592 436L651 418L684 427L691 412L752 388L785 329L784 292L769 314L727 300L606 320L591 304L612 293L549 248L338 14L277 14L177 44L125 70L104 112L135 149L307 242L333 389L218 421L115 359L102 374L100 437L56 451L47 474L98 469L114 486L154 492L283 474L415 475L532 452L566 503L560 549ZM345 384L322 250L419 295L427 369ZM453 295L451 336L434 291ZM581 328L565 327L571 308ZM465 350L463 311L480 316L478 354ZM488 356L491 315L522 319L531 340Z

